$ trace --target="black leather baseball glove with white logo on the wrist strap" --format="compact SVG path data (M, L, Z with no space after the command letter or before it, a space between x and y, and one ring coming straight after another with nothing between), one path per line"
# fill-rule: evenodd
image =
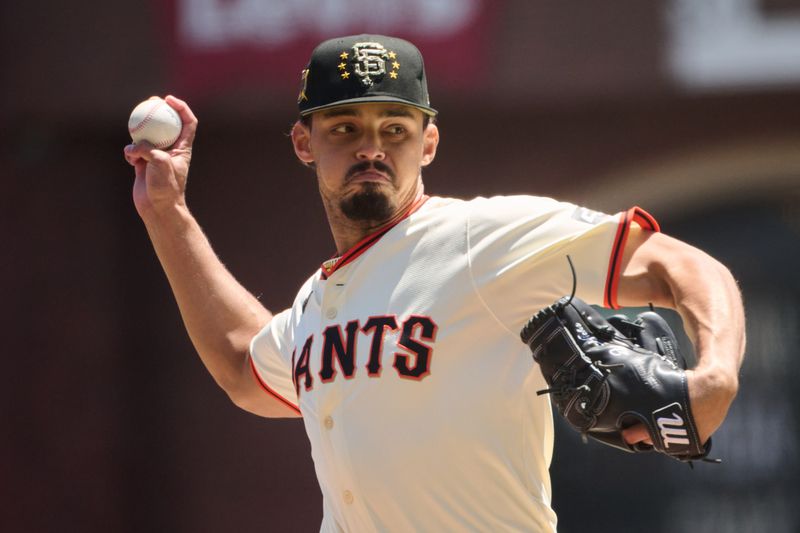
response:
M628 452L704 459L689 405L686 361L667 322L653 311L605 319L578 298L536 313L520 333L559 413L584 436ZM622 430L643 423L653 445L628 444Z

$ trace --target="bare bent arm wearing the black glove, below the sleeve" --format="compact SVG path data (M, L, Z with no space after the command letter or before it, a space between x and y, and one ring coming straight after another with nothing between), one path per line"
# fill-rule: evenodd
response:
M701 442L722 424L739 388L744 358L744 307L730 271L705 252L662 233L631 228L617 301L622 306L676 310L692 340L697 366L687 371L689 398ZM644 428L628 442L647 440Z

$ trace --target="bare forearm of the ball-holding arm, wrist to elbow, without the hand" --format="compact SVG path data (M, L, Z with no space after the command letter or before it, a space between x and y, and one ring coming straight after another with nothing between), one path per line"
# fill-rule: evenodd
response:
M252 378L249 342L272 315L220 262L185 206L143 220L195 349L232 394Z

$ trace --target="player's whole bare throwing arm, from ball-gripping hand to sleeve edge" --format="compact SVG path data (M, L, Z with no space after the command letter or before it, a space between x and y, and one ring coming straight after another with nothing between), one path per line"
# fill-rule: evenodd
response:
M133 198L200 359L239 407L267 417L297 414L258 385L249 343L272 318L228 272L186 205L186 180L197 119L186 103L167 102L183 130L168 152L147 143L125 147L136 174Z

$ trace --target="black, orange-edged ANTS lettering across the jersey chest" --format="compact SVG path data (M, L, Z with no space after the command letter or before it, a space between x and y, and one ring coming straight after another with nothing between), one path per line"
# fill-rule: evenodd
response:
M421 380L430 374L433 342L436 340L436 323L427 316L410 315L398 322L394 315L373 316L362 325L359 320L328 326L320 339L309 335L297 355L292 352L292 380L300 396L301 388L314 388L314 371L322 383L335 379L352 379L356 367L356 346L359 341L369 342L369 358L364 369L370 377L380 377L383 372L384 340L389 333L400 331L392 366L397 375L405 379ZM312 357L312 355L319 357ZM318 366L312 368L312 360ZM341 374L341 375L340 375Z

